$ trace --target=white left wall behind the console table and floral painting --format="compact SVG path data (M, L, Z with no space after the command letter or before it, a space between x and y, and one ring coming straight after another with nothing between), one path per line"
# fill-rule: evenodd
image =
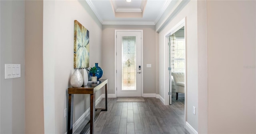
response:
M68 108L67 90L74 72L74 20L90 31L90 66L98 62L102 67L102 25L86 1L44 1L44 35L49 34L44 37L44 94L49 97L44 97L44 100L48 99L44 107L54 108L45 120L55 119L55 126L45 128L49 133L64 134L67 131L64 109ZM96 96L99 94L101 92ZM89 107L89 95L75 94L73 123Z

